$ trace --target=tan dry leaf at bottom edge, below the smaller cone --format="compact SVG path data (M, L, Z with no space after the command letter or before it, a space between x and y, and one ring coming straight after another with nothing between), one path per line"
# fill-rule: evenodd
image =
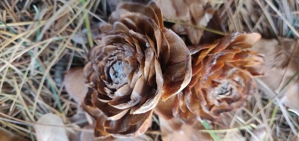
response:
M162 141L213 141L208 133L200 133L203 127L183 124L175 118L159 117ZM198 125L198 124L197 124Z

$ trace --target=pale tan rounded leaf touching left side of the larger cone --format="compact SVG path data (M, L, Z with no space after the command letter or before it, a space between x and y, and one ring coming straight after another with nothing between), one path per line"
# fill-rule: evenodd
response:
M83 68L70 69L64 76L64 87L75 102L81 105L88 91L85 85Z

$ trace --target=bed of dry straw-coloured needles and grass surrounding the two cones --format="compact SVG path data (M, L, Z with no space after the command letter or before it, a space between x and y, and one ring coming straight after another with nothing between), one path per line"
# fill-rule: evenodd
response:
M77 111L81 111L80 104L65 92L63 76L70 68L87 62L99 23L108 21L118 1L0 1L1 127L35 141L37 120L46 113L54 113L72 133L93 131L80 127L92 122L89 116L74 120ZM202 1L216 10L214 15L218 15L221 28L196 25L190 19L189 23L177 19L166 22L194 27L200 36L203 31L219 34L219 30L220 34L261 33L266 39L255 45L254 50L265 54L268 75L257 79L260 92L248 98L246 105L225 114L219 122L204 122L199 132L225 141L298 140L299 1ZM149 141L167 138L165 132L161 133L167 127L159 128L156 116L152 121L146 138Z

